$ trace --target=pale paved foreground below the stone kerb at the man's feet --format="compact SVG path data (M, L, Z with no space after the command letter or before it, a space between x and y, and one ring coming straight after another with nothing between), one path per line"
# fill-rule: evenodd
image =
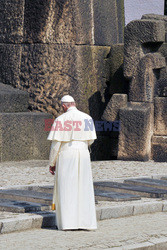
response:
M167 213L155 213L98 222L96 231L33 229L0 236L1 250L137 249L167 242ZM140 245L139 245L140 244ZM134 248L129 248L133 246ZM156 249L167 249L156 248Z

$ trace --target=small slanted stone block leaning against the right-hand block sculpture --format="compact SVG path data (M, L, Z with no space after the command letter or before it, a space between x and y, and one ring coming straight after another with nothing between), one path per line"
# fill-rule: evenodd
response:
M127 95L124 94L114 94L106 109L104 110L102 119L107 121L118 121L119 120L119 110L120 108L127 106Z

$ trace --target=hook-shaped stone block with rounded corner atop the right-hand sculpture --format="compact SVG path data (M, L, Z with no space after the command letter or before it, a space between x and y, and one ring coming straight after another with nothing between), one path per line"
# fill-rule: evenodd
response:
M154 43L154 51L165 41L165 24L157 20L135 20L125 27L124 37L124 76L131 79L140 59L150 51Z

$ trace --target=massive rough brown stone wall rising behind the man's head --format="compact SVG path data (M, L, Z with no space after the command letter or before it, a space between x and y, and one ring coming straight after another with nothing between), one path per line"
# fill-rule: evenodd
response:
M2 0L0 12L0 81L26 90L30 110L57 116L69 93L99 119L105 59L123 42L123 0Z

